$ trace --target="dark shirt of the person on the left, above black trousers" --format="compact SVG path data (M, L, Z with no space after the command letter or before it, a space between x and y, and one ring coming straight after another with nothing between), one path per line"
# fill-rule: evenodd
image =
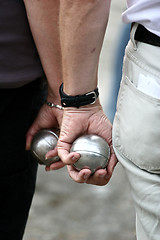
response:
M0 88L43 76L23 0L0 0Z

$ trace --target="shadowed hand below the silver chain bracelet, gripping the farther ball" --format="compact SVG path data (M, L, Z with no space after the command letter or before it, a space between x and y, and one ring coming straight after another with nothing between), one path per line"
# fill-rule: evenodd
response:
M32 126L29 128L26 134L26 150L30 149L31 141L33 136L41 129L47 128L60 128L62 122L63 111L57 108L50 108L46 104L44 104ZM51 158L58 155L57 148L49 151L46 154L46 158ZM64 163L62 161L58 161L56 163L51 164L49 167L46 167L46 171L56 170L62 168Z

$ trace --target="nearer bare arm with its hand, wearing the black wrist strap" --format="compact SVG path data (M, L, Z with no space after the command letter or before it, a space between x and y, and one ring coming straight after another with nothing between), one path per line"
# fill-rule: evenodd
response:
M61 0L60 42L63 66L64 92L78 95L97 86L99 55L109 16L110 0ZM99 100L93 105L64 110L58 153L65 164L71 165L80 156L69 153L72 142L86 133L102 136L110 145L111 158L107 169L80 172L68 166L70 176L77 182L106 184L117 163L112 149L112 126Z

